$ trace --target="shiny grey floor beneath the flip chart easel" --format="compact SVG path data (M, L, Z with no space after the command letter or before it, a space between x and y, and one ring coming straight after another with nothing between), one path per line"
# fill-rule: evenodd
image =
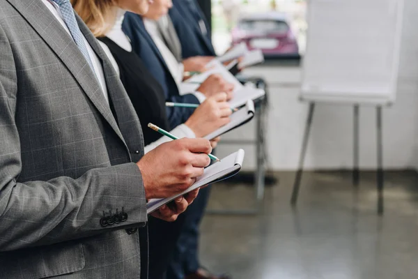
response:
M235 279L417 279L418 175L385 177L385 213L376 214L373 173L355 190L349 172L304 174L289 204L294 173L266 189L258 216L207 215L201 262ZM249 186L216 185L210 209L251 206Z

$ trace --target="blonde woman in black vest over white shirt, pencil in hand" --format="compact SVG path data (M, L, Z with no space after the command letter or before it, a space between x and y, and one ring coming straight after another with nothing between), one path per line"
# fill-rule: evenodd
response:
M139 56L132 52L130 40L121 29L125 11L144 14L149 0L71 0L74 9L91 29L107 53L116 72L132 100L144 130L146 152L167 141L158 133L144 128L152 122L160 128L170 129L167 119L164 94L161 86L150 75ZM186 100L187 96L179 96ZM180 103L180 102L178 102ZM189 108L177 109L181 114L191 114ZM184 124L173 127L171 133L178 137L204 137L229 122L231 110L224 93L208 98L188 117ZM157 142L155 142L158 138ZM217 139L219 140L219 139ZM217 144L212 141L212 145Z

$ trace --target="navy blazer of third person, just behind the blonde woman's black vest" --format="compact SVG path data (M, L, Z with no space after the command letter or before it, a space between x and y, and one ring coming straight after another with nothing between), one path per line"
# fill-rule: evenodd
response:
M123 31L131 40L132 50L141 57L150 73L160 82L167 101L199 104L199 100L192 94L180 96L176 81L173 79L153 38L146 31L144 21L140 15L126 13L123 21ZM192 113L193 110L185 107L167 107L167 116L171 128L185 123Z

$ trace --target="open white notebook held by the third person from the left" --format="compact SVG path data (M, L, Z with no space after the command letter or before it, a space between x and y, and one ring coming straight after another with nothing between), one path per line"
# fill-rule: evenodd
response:
M196 91L200 84L204 82L210 75L212 74L219 74L224 77L227 82L230 82L234 85L233 89L233 98L229 100L229 105L231 108L241 107L245 105L248 100L256 100L261 98L265 95L265 91L263 89L256 89L252 86L244 86L239 82L229 70L219 63L219 61L212 60L208 64L210 70L207 70L205 73L201 73L200 75L194 75L192 78L187 80L187 82L183 82L180 86L180 94L190 93Z

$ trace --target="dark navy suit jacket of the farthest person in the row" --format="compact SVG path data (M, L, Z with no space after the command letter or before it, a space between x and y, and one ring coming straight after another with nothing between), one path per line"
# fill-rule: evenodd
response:
M183 58L192 56L216 56L210 38L210 26L194 0L173 0L169 15L180 39ZM203 34L199 22L208 30Z

